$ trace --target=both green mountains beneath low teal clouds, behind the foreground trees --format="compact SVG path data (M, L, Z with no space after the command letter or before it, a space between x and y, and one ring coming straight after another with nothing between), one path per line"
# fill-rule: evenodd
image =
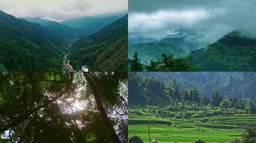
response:
M141 63L145 64L147 61L149 64L151 60L158 60L161 53L173 54L174 58L192 55L192 64L199 67L200 71L256 71L256 40L241 35L239 30L232 31L205 47L185 39L186 37L170 37L161 39L160 42L131 44L128 57L132 59L137 51Z

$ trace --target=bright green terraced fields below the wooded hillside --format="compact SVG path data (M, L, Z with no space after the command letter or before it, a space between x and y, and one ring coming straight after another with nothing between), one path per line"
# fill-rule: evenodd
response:
M206 123L196 119L178 120L132 115L129 116L128 137L137 135L148 143L147 124L149 122L151 123L149 124L150 138L158 143L193 143L197 139L202 139L206 143L218 143L227 142L235 137L241 139L244 132L243 126L249 123L256 124L256 115L213 116L208 117Z

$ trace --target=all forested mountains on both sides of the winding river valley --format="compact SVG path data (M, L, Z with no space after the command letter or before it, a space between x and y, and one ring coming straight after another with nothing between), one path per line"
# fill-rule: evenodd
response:
M61 71L67 53L75 70L85 65L90 71L127 71L128 15L118 18L89 17L95 20L84 23L88 30L39 17L24 18L28 22L0 12L0 71ZM82 25L85 19L68 21Z

